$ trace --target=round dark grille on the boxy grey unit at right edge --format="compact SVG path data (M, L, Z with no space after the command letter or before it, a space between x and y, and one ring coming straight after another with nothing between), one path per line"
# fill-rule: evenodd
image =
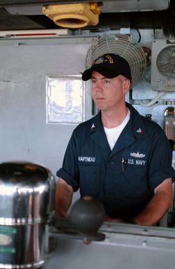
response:
M156 61L158 71L166 78L175 78L175 45L162 49Z

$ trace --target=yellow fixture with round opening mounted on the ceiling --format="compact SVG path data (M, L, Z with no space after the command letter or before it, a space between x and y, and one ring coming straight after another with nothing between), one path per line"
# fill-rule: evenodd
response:
M60 27L82 28L98 24L100 8L97 3L68 3L43 6L43 14Z

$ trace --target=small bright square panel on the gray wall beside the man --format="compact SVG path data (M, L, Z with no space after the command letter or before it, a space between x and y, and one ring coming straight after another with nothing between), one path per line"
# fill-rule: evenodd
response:
M47 76L47 124L84 121L84 82L81 75Z

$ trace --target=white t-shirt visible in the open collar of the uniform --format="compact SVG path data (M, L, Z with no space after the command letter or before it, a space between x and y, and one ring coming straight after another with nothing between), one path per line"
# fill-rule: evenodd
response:
M121 132L123 131L125 125L129 122L130 119L130 110L128 110L128 114L126 115L125 119L123 122L121 122L120 125L114 127L114 128L106 128L104 127L106 136L107 136L107 141L109 143L109 146L111 150L113 149L116 140L119 138Z

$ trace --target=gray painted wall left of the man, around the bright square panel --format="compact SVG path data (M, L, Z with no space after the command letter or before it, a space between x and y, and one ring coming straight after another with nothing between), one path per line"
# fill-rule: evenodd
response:
M91 38L0 41L0 162L32 161L55 175L75 125L46 124L46 75L84 71Z

